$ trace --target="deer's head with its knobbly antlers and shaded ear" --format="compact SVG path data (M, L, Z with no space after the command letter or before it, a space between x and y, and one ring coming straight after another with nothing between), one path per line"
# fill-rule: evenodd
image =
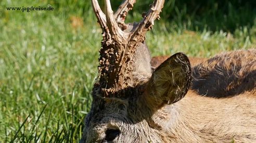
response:
M162 121L157 116L164 106L183 98L190 86L190 63L183 53L174 54L151 70L145 34L160 18L164 0L155 0L139 23L125 24L134 3L126 0L113 13L110 0L105 0L104 13L92 0L103 40L99 76L81 142L163 141Z

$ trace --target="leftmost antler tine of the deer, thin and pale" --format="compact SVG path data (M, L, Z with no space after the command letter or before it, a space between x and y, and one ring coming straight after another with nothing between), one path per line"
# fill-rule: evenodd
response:
M93 5L93 11L96 15L96 18L99 22L101 29L103 30L103 32L109 33L108 27L107 27L107 22L106 22L106 16L103 13L103 11L100 9L98 1L92 0L92 5Z

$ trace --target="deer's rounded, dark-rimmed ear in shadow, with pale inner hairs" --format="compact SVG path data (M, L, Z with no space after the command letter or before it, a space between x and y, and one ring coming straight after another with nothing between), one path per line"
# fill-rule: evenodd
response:
M182 99L191 85L191 67L184 53L176 53L153 71L146 95L152 106L173 104Z

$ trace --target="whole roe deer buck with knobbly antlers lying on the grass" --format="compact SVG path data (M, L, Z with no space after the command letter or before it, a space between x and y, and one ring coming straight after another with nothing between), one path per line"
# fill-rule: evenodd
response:
M125 24L134 3L113 13L105 0L104 13L92 0L103 41L81 142L255 141L256 50L223 53L192 70L176 53L152 71L145 34L164 0L154 0L139 23Z

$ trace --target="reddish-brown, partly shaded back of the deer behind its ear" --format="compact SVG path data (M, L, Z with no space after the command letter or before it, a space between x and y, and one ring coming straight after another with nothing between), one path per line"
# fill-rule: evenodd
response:
M256 87L256 50L222 53L193 67L193 87L199 94L233 96ZM211 87L211 88L209 88Z

